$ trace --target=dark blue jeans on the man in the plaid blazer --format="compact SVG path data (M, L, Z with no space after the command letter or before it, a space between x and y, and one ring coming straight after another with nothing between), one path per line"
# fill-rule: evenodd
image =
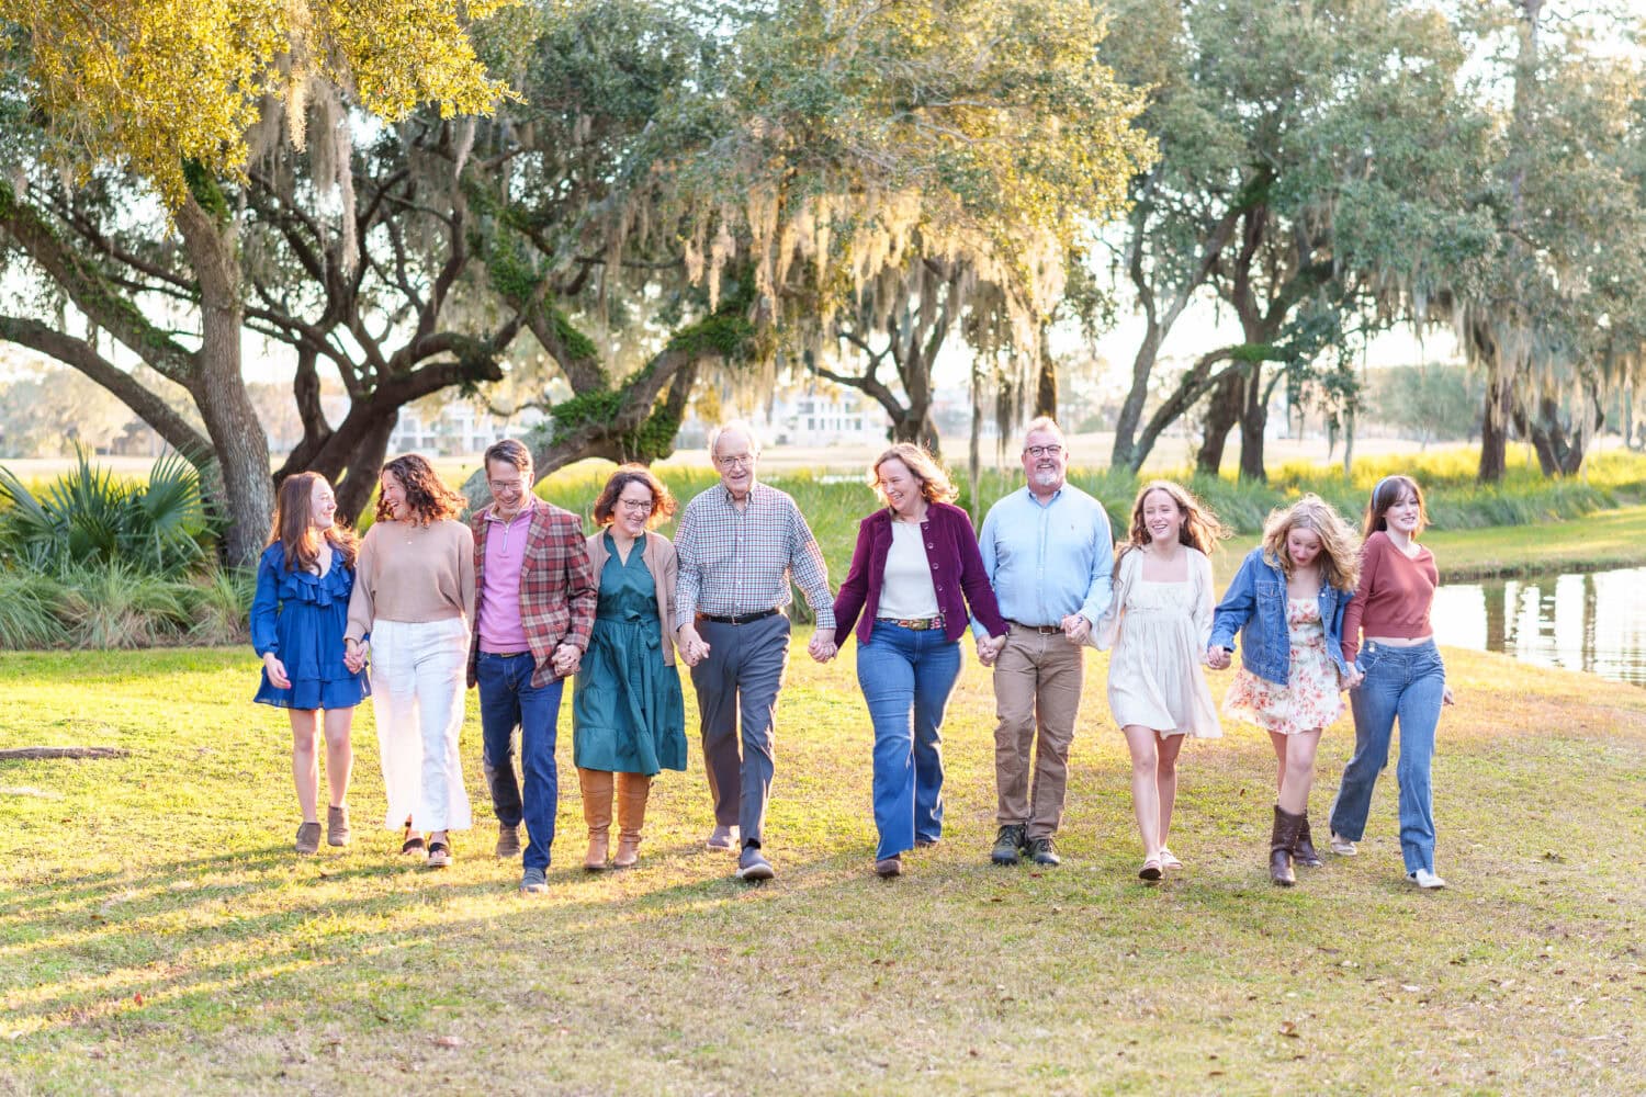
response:
M481 760L492 789L497 822L517 827L525 822L527 868L548 868L548 847L555 842L555 809L560 780L555 773L555 732L560 724L560 694L565 679L533 686L537 661L525 655L479 653L474 683L481 689ZM514 730L520 729L522 786L514 775Z

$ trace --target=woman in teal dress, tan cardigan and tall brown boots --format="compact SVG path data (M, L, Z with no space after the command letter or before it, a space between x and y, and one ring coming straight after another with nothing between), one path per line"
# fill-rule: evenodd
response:
M583 867L606 867L617 801L612 865L640 860L640 827L652 778L686 768L686 706L675 669L675 546L652 526L675 500L645 465L622 465L594 502L601 531L589 538L599 581L594 632L583 653L571 702L573 760L583 786L589 852Z

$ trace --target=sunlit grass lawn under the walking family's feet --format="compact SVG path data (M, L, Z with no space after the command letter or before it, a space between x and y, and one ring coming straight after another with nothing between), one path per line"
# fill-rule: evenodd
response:
M356 844L298 859L290 737L249 701L249 651L5 655L0 747L132 753L0 763L0 1092L1639 1092L1646 691L1448 651L1442 893L1401 877L1393 773L1360 857L1272 888L1274 760L1231 725L1185 750L1187 868L1151 888L1101 656L1063 867L988 863L993 694L968 661L945 839L887 883L853 650L816 668L800 641L775 882L703 852L691 735L635 870L576 867L571 778L540 900L487 855L472 701L481 822L431 873L374 827L369 707ZM1345 719L1322 743L1322 839L1351 740Z

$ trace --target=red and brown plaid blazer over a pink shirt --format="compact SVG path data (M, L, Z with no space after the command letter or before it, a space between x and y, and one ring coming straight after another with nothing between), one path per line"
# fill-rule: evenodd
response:
M474 530L474 640L469 643L469 686L474 686L474 664L481 655L481 600L486 597L486 516L484 507L469 518ZM532 503L532 525L527 533L525 556L520 562L520 625L537 671L533 686L555 681L553 655L561 643L588 650L589 630L594 628L594 604L599 590L594 586L594 567L583 536L583 523L570 510L551 507L543 500Z

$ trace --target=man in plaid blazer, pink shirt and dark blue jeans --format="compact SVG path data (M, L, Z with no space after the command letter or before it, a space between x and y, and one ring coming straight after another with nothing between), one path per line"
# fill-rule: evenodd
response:
M486 451L486 480L492 503L469 518L469 684L481 689L482 761L497 812L497 855L520 854L525 822L520 890L537 895L548 890L548 847L560 799L560 699L589 646L597 587L583 523L532 493L532 451L512 437L494 444ZM523 788L514 771L517 727Z

